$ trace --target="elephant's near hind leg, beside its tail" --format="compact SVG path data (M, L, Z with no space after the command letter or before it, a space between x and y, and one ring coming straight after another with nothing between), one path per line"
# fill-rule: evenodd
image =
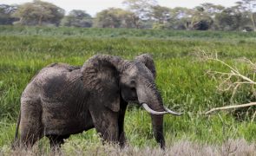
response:
M40 101L22 100L21 146L32 147L43 137L42 107Z

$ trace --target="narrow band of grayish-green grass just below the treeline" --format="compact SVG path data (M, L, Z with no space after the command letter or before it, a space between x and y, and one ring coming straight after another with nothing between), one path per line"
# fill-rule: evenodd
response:
M184 30L161 30L161 29L98 29L98 28L70 28L70 27L13 27L1 26L2 35L29 35L29 36L89 36L94 38L161 38L161 39L252 39L255 40L256 33L233 32L233 31L184 31ZM241 40L241 42L244 42Z

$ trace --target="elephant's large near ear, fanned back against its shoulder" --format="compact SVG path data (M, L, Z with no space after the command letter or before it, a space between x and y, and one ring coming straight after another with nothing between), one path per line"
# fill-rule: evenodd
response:
M95 105L104 105L114 112L120 110L119 64L121 58L110 55L95 55L82 66L84 88Z

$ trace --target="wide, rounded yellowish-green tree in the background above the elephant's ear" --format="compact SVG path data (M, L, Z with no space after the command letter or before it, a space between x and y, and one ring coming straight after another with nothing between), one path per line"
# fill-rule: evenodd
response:
M100 28L138 28L138 16L119 8L102 10L95 16L95 27Z

